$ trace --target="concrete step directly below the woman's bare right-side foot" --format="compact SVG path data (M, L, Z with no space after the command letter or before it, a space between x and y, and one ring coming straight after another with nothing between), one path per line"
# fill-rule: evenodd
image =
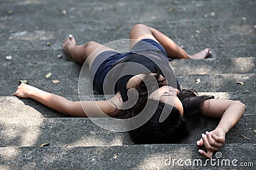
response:
M188 74L225 74L256 73L255 57L237 57L205 60L172 60L176 75ZM52 73L52 78L77 77L81 66L74 62L0 62L0 79L36 79L45 78ZM182 69L180 69L182 66ZM86 67L87 68L87 67ZM85 71L88 72L88 69Z

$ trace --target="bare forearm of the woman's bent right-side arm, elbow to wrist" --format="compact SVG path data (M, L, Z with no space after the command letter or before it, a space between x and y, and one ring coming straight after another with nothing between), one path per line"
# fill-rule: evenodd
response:
M243 116L245 108L245 105L239 101L236 101L234 104L230 105L230 107L228 107L223 113L220 123L216 129L223 129L225 133L230 131L230 129L232 129L232 127L234 127L234 125L236 125Z

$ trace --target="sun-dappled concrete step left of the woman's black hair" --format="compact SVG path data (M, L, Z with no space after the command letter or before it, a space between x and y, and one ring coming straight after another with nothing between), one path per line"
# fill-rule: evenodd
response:
M104 119L108 122L108 119ZM126 132L111 132L88 118L3 118L1 146L115 146L131 145Z

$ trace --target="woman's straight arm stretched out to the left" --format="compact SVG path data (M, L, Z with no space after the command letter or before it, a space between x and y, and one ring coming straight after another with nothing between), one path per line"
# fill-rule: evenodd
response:
M20 84L13 96L35 99L53 110L72 117L87 117L81 104L83 104L85 111L93 115L93 117L99 117L100 112L109 116L115 116L119 111L114 107L116 97L109 101L69 101L64 97L45 92L24 83ZM113 104L109 104L109 102Z

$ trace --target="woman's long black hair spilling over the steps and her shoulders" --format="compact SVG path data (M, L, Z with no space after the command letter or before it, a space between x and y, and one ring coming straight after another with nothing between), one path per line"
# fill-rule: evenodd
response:
M150 77L159 80L159 72L155 76L148 76L148 78ZM199 122L204 122L201 111L202 104L204 104L205 100L213 99L214 97L198 96L198 93L193 89L182 90L177 96L184 109L183 116L181 116L180 111L174 106L148 99L148 93L161 87L163 81L158 81L158 87L152 86L151 89L145 89L145 84L142 81L136 87L139 93L137 103L132 108L121 110L120 115L122 118L131 118L141 113L142 110L146 111L146 113L154 111L150 107L145 108L146 103L149 106L156 106L155 104L157 104L154 115L145 124L129 132L135 144L177 143L180 139L188 136L189 132ZM170 114L163 122L159 122L161 113L166 110L170 111Z

